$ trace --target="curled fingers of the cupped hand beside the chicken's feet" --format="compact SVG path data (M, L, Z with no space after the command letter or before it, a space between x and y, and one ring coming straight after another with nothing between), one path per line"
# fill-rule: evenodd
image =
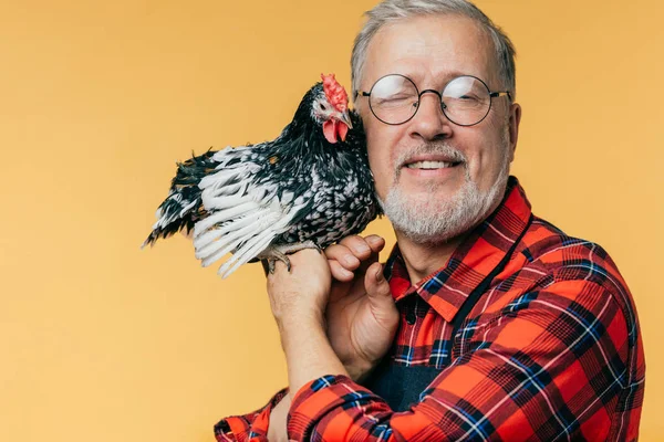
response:
M346 236L338 244L330 245L325 249L325 256L328 257L332 276L338 281L351 281L353 272L371 257L376 260L378 252L384 246L385 240L378 235L369 235L366 238L357 235ZM366 265L369 265L369 262Z

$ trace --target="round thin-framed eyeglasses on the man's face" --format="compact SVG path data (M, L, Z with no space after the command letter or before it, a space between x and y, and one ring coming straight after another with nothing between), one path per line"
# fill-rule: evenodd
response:
M381 122L401 125L415 116L422 95L427 92L438 95L443 114L458 126L474 126L485 119L494 97L506 95L511 101L509 91L491 92L473 75L453 78L440 94L436 90L419 92L407 76L390 74L378 78L369 92L355 91L355 96L369 97L369 107Z

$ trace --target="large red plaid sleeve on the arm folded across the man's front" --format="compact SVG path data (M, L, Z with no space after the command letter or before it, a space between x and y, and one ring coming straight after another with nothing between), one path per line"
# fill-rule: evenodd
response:
M639 417L616 422L611 410L633 400L629 392L641 381L627 368L630 340L635 338L620 304L603 286L566 281L525 293L496 312L492 322L467 325L457 339L461 356L408 411L392 411L344 376L309 382L293 397L289 439L634 439Z

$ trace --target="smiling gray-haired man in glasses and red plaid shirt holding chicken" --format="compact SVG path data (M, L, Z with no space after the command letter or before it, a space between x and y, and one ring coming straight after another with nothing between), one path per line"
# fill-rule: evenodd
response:
M219 441L637 438L630 292L509 176L513 53L464 0L369 12L353 90L397 245L382 266L383 239L346 238L269 276L290 388L221 420Z

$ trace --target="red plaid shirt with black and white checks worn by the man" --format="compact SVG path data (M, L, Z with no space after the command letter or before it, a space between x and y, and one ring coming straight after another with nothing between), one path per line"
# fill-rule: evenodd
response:
M469 294L496 269L452 336ZM395 248L385 269L401 324L390 364L440 369L407 411L345 376L295 392L290 440L633 441L645 361L630 291L595 243L533 217L510 177L500 207L416 285ZM266 441L269 413L215 425L218 441Z

